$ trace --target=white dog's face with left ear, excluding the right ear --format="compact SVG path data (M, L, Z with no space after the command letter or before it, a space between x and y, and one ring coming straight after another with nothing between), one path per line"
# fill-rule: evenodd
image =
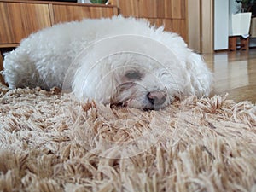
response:
M177 82L178 75L174 67L145 55L111 55L92 66L87 62L79 67L73 90L82 100L159 109L181 94L183 82Z

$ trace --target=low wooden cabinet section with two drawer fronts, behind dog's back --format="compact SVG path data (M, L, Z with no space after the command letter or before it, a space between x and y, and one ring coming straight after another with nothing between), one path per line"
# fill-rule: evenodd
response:
M0 48L15 47L32 32L59 22L118 15L115 6L0 0Z

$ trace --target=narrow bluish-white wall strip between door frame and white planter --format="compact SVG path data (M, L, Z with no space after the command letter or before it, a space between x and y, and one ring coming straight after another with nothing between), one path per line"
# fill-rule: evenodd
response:
M229 4L229 0L214 1L214 50L229 48Z

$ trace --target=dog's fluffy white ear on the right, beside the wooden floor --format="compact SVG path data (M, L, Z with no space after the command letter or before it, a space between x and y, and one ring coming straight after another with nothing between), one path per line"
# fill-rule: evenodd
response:
M189 94L209 96L212 91L213 76L202 56L191 52L187 57L186 68L191 82Z

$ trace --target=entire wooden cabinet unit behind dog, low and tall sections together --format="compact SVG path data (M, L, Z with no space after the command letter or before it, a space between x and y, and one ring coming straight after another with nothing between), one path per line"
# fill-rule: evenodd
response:
M0 0L0 48L19 44L22 38L55 23L83 18L135 16L148 19L188 42L188 0L112 0L112 5ZM119 11L118 11L119 10Z

